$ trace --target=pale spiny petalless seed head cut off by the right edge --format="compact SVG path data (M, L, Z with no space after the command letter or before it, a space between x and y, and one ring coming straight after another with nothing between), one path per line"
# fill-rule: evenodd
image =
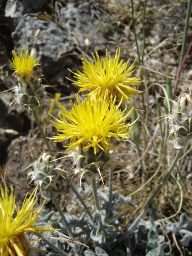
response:
M179 137L192 138L192 94L184 93L177 101L173 101L173 109L169 117L170 133Z

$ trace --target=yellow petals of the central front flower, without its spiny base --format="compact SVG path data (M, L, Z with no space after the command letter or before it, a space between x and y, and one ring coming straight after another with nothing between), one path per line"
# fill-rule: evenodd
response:
M77 94L78 105L71 101L72 110L70 112L58 103L61 109L61 120L55 118L56 122L53 123L59 132L53 137L55 142L70 139L70 143L65 146L69 151L74 151L77 147L80 149L93 148L94 154L96 154L97 149L108 150L112 147L111 137L118 140L130 138L132 131L127 128L133 123L126 123L126 118L133 108L125 114L125 109L119 109L122 101L115 105L116 97L109 108L106 95L98 100L90 99L88 96L81 103Z

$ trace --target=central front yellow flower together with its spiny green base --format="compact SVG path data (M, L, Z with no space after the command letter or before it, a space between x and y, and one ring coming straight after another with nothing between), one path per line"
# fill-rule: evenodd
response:
M76 95L77 105L71 101L72 110L69 112L58 103L61 109L61 117L55 118L54 126L59 132L53 136L55 142L70 139L67 147L74 162L76 163L75 173L80 173L91 177L108 170L112 165L112 155L109 149L114 146L111 138L125 140L133 133L131 127L133 123L126 123L127 117L133 108L125 113L126 109L120 110L122 100L115 105L116 96L109 108L109 102L104 98L91 98L88 96L83 102ZM68 119L68 121L67 121ZM101 176L102 179L102 176Z

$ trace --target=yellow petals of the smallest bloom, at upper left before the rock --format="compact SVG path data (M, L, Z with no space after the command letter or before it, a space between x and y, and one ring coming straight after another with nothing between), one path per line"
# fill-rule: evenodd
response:
M9 61L13 65L12 69L15 70L13 74L16 72L20 75L26 73L28 76L30 76L34 73L33 68L37 65L41 65L40 63L36 63L36 58L30 56L28 47L27 51L25 52L25 57L23 57L22 49L20 52L18 52L18 56L14 50L12 51L12 55L12 61Z

